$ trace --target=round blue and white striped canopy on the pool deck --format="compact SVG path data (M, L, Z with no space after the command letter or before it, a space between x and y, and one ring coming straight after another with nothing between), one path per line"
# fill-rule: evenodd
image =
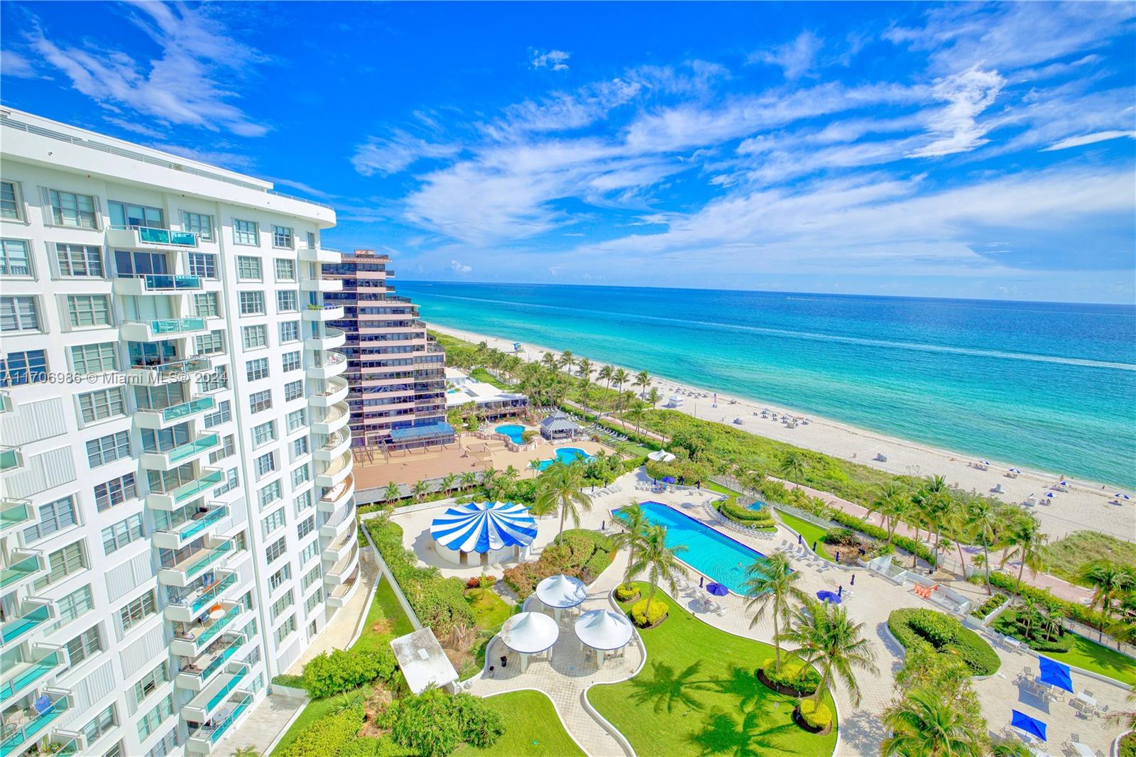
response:
M513 502L469 502L446 509L429 526L434 540L449 549L487 552L527 547L536 538L528 508Z

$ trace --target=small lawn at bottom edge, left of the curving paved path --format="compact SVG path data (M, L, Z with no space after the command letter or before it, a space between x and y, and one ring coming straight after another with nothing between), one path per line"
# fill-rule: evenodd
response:
M504 717L504 735L486 749L462 747L458 755L485 757L583 757L565 731L552 701L540 691L511 691L490 697L485 704Z

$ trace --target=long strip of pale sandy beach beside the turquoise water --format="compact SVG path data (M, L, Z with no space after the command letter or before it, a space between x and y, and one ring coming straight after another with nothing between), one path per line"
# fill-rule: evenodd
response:
M487 334L450 328L438 324L427 324L429 328L451 334L470 342L486 342L490 347L506 352L513 351L516 340L501 339ZM559 355L554 349L520 342L520 357L526 360L540 360L545 352ZM587 357L585 355L576 355ZM592 360L595 368L604 365ZM629 365L617 365L625 371L635 373L637 368ZM1068 486L1059 486L1061 472L1036 471L1013 463L989 460L987 471L974 467L974 464L986 458L936 449L912 441L887 436L875 431L858 429L828 418L810 415L760 400L745 399L718 392L713 401L713 390L695 388L670 381L665 376L654 376L652 385L658 388L663 407L671 396L683 398L683 413L707 421L716 421L742 429L753 434L776 439L811 449L846 460L887 471L895 474L917 476L942 475L952 484L966 490L989 493L1006 502L1021 505L1030 494L1041 502L1030 509L1037 515L1043 531L1051 541L1072 533L1074 531L1092 530L1106 533L1119 539L1136 541L1136 499L1121 500L1122 505L1113 505L1113 493L1118 489L1101 483L1070 480ZM687 392L687 393L682 393ZM692 397L691 393L695 396ZM705 394L702 397L702 394ZM776 414L778 421L762 418L762 410L769 415ZM797 423L791 429L779 419L784 415L807 418L808 424ZM740 419L741 423L734 423ZM886 457L886 461L876 459ZM1020 468L1017 477L1006 475L1011 467ZM994 491L1001 484L1002 491ZM1045 497L1052 492L1053 497Z

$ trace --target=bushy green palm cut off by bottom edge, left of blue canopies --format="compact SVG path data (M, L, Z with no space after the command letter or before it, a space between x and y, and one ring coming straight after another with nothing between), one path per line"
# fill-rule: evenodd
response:
M912 689L884 712L892 735L880 754L902 757L982 757L982 734L950 699L933 689Z

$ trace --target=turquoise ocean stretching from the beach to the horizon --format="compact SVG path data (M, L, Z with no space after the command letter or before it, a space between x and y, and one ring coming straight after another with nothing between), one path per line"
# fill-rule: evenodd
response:
M1136 307L400 282L432 323L1136 486Z

